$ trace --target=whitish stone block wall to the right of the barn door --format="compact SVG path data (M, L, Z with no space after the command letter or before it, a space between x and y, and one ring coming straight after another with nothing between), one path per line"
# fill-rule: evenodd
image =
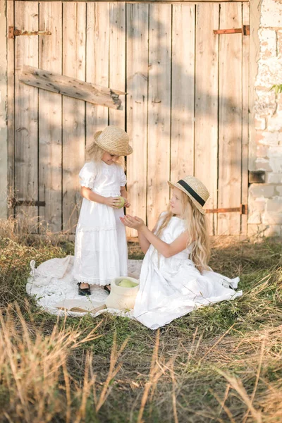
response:
M282 0L262 0L259 61L255 81L256 170L265 183L249 189L248 235L282 235Z

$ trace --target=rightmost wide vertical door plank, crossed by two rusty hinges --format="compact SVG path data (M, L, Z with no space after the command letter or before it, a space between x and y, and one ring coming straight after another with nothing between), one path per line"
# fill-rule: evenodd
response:
M222 4L220 29L240 25L242 6ZM219 35L219 208L240 205L241 154L242 34ZM218 214L219 235L239 233L239 213Z

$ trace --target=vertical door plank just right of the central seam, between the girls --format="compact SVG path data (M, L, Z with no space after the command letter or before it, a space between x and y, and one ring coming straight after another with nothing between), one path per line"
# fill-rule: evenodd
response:
M147 204L147 103L148 103L147 4L127 5L127 131L133 154L127 158L129 213L146 221ZM128 228L128 237L137 231Z

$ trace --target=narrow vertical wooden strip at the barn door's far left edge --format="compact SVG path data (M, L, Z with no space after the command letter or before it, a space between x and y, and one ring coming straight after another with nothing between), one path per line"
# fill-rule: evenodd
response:
M14 26L14 2L7 1L7 27ZM15 40L7 38L7 68L8 68L8 103L7 103L7 131L8 131L8 197L15 195ZM13 216L15 210L8 209L8 216Z

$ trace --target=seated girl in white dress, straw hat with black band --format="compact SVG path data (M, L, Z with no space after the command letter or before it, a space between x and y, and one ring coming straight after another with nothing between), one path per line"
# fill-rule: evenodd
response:
M153 231L138 217L122 216L125 226L138 231L145 254L134 317L150 329L168 324L201 305L231 300L239 278L216 274L208 266L209 235L204 203L209 192L193 176L168 182L173 195L167 212Z

